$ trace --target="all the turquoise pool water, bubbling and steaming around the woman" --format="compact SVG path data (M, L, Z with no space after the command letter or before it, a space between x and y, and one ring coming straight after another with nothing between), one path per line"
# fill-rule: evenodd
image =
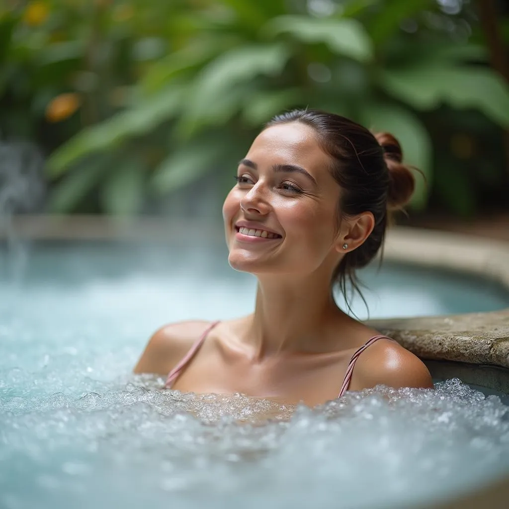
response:
M223 254L90 243L2 254L0 507L407 509L509 473L509 407L457 379L309 409L132 376L161 324L250 312L254 280ZM506 305L482 281L372 274L372 316Z

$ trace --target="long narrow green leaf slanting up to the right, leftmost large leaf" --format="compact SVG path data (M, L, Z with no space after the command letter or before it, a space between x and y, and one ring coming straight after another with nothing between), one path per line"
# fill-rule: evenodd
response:
M56 177L85 155L117 147L129 136L146 134L175 115L182 100L183 90L171 88L98 125L83 129L51 154L47 161L49 175Z

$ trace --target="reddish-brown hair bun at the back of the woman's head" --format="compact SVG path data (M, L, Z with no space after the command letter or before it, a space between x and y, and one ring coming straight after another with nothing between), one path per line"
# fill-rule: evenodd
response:
M383 149L384 160L389 170L387 208L400 209L407 204L415 188L415 178L410 168L403 164L403 151L398 140L388 132L375 134Z

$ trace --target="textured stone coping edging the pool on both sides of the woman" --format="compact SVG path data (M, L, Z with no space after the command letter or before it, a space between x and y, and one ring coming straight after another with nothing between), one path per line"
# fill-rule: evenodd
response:
M45 240L168 240L203 223L163 218L100 216L18 216L11 230L22 238ZM8 229L0 224L0 238ZM203 237L217 241L215 228ZM460 271L498 282L509 290L509 242L432 230L388 230L384 259ZM493 313L372 320L374 327L424 359L509 367L509 308Z

